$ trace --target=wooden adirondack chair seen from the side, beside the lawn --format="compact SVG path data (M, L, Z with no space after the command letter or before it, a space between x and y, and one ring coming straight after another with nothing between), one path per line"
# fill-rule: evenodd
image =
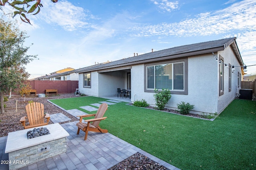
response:
M103 117L107 109L108 109L108 104L103 103L100 105L96 114L77 116L77 117L80 117L79 122L76 123L76 126L78 127L77 134L79 134L80 129L84 131L85 132L84 141L87 139L88 131L108 133L107 129L101 129L99 126L100 121L105 120L107 118L107 117ZM83 117L91 117L91 116L95 116L94 119L84 120L86 123L82 123Z

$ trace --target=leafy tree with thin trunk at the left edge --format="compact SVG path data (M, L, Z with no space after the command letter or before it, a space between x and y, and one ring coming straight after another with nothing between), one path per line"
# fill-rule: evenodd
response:
M0 18L0 113L4 113L4 94L24 83L29 76L24 66L36 57L26 55L26 33L15 23Z

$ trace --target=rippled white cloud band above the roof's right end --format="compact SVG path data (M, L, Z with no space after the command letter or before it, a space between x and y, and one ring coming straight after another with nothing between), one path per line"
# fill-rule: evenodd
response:
M244 0L214 13L202 13L195 18L178 23L160 23L134 27L132 36L154 35L206 36L232 32L233 30L256 30L256 2Z

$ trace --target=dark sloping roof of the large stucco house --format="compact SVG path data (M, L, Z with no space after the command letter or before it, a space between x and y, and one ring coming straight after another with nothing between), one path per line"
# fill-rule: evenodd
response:
M106 64L97 64L93 66L88 66L84 68L77 69L77 73L90 72L96 70L105 70L105 69L114 69L120 68L123 69L129 68L134 64L149 63L154 61L162 61L168 59L176 59L180 57L188 57L192 55L200 55L205 53L212 53L217 51L223 51L226 47L231 46L239 63L243 66L242 57L240 51L236 44L236 37L219 39L214 41L207 41L202 43L195 43L190 45L182 45L178 47L172 47L170 49L164 49L160 51L155 51L152 53L146 53L138 55L135 57L129 57L126 59L121 59L117 61L112 61Z

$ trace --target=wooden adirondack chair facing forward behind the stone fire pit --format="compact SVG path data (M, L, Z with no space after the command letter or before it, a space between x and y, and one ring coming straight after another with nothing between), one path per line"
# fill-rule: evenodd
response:
M21 124L24 126L24 129L38 127L43 125L48 125L50 120L50 115L46 113L44 115L44 105L38 102L30 103L26 106L27 116L24 116L20 119ZM46 123L44 122L46 118ZM28 119L29 125L26 126L26 119Z

